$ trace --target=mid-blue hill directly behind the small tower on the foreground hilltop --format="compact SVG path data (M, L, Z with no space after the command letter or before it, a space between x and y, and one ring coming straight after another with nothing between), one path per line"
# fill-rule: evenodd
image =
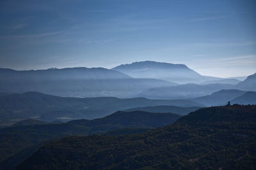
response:
M218 92L214 92L208 96L196 97L195 99L191 99L198 103L202 103L205 106L220 106L223 104L227 104L228 101L232 101L236 97L242 96L245 94L245 91L241 90L220 90ZM243 103L236 103L243 104Z

